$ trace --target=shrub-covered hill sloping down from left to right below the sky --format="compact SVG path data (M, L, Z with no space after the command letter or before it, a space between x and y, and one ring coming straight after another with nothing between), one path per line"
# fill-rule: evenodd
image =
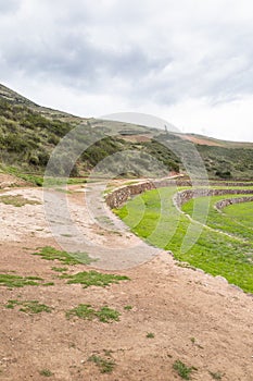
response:
M173 145L188 151L194 145L200 152L210 179L250 180L253 170L253 144L235 143L195 134L178 134L137 124L87 119L41 107L12 89L0 85L0 164L25 173L42 174L49 157L61 138L76 126L83 126L81 139L91 145L73 162L73 176L85 176L100 161L113 153L127 151L124 168L112 160L110 167L122 176L152 176L182 172L184 164L173 152ZM111 136L113 135L113 136ZM80 142L76 143L80 144ZM167 148L170 147L172 149ZM75 147L73 148L75 150ZM129 152L139 152L135 160ZM74 160L69 152L67 160ZM152 163L150 170L150 157ZM60 162L66 158L60 158ZM64 159L64 160L63 160ZM135 161L135 162L134 162ZM162 168L162 171L161 171ZM59 169L64 175L64 168Z

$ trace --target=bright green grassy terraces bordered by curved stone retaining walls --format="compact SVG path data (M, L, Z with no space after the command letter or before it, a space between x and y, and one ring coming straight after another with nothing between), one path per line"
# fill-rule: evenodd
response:
M249 212L244 222L242 207L253 210L252 202L235 205L220 213L213 208L219 199L240 195L190 200L182 209L191 214L195 202L200 220L203 218L201 210L208 207L207 221L202 229L200 223L190 221L174 206L173 197L176 192L176 188L147 192L115 212L134 233L151 245L172 250L176 259L213 275L225 276L229 283L253 293L253 234L250 229L252 214Z

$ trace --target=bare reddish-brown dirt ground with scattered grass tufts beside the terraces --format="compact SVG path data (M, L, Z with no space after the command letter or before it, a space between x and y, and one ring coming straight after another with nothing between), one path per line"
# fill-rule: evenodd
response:
M146 246L127 230L119 226L119 234L115 234L113 229L96 223L92 217L84 218L81 189L73 187L73 190L77 192L67 195L73 218L83 234L97 245L89 254L101 259L94 262L96 269L105 269L109 260L105 258L103 265L101 247L114 249L111 267L114 259L115 266L118 265L115 248L128 247L129 242L134 247L130 255L136 250L136 256L141 257L139 251L146 251ZM5 192L42 202L38 188ZM12 290L0 286L0 380L46 380L40 372L48 369L52 373L48 379L59 381L173 381L181 379L173 369L177 359L195 368L192 380L210 381L215 377L226 381L253 380L251 295L220 278L178 267L168 253L157 250L151 256L147 251L149 261L144 255L143 263L134 266L131 258L123 269L113 271L129 276L129 281L105 288L66 284L66 280L52 270L62 263L31 255L37 247L59 247L45 219L43 206L17 208L0 204L0 273L34 275L54 282L51 286ZM65 233L61 234L65 237ZM73 237L65 238L73 242ZM67 268L69 273L92 269L85 265ZM10 299L36 299L53 310L27 315L18 307L5 308ZM65 311L78 304L90 304L94 308L107 305L122 315L119 321L112 323L67 320ZM126 310L125 306L132 309ZM153 333L153 337L147 337L147 333ZM101 373L88 361L92 355L113 359L112 373ZM217 378L218 374L222 378Z

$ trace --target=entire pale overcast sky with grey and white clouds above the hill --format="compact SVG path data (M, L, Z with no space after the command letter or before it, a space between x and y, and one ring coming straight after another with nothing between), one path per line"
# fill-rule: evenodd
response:
M0 83L81 116L253 142L252 0L0 0Z

